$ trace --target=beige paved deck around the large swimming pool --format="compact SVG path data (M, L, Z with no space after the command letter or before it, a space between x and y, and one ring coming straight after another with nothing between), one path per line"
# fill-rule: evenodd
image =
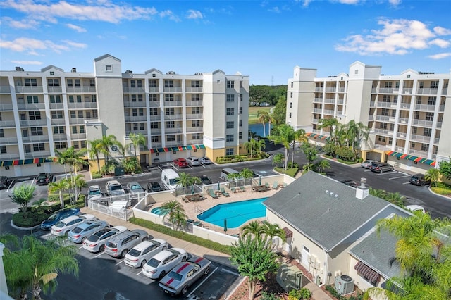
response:
M209 208L212 208L213 206L216 206L218 204L225 204L225 203L232 203L237 201L244 201L244 200L252 200L252 199L259 199L259 198L266 198L269 196L272 196L273 194L276 194L276 192L280 191L282 189L279 187L278 189L273 189L270 187L265 192L252 192L252 189L250 187L246 187L245 192L232 192L230 189L226 189L226 192L230 196L218 196L218 198L213 199L209 194L204 193L204 199L201 201L194 201L194 202L185 202L183 201L183 196L178 196L178 201L180 201L181 204L183 204L183 208L185 209L185 214L189 219L192 220L199 220L197 218L197 215L199 213L202 213L203 211L208 210ZM154 206L155 207L155 206ZM264 220L264 218L258 218L254 220ZM202 224L209 228L210 230L214 230L216 232L224 232L224 228L222 226L217 226L211 223L206 223L202 220L199 220L202 222ZM244 224L243 224L244 225ZM240 227L236 228L228 228L227 232L228 235L235 235L240 233Z

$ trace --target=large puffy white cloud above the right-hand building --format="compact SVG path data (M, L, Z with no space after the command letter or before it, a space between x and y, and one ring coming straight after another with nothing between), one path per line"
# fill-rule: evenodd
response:
M350 35L342 44L335 45L337 51L357 52L361 55L396 54L403 55L414 49L427 49L436 45L449 45L443 39L433 39L435 33L426 24L417 20L388 20L381 18L381 30L371 30L369 35ZM440 30L445 32L445 29Z

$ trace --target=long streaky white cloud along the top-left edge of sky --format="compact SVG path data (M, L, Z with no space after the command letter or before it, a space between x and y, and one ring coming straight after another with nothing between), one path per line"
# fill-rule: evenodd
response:
M56 18L73 20L99 20L109 23L120 23L121 20L149 19L156 15L155 8L116 5L111 1L97 1L91 4L69 4L66 1L52 3L50 1L37 2L35 0L6 0L1 2L4 8L32 15L37 20L47 20L56 23Z

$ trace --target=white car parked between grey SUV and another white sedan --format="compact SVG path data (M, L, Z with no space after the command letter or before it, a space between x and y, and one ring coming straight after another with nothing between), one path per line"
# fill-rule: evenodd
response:
M168 242L164 239L150 239L149 241L140 242L140 244L128 251L128 254L125 254L124 263L132 268L142 267L149 258L167 248Z

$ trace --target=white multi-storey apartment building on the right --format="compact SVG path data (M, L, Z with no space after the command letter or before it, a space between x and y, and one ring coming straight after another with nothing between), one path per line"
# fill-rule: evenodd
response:
M405 70L383 75L381 66L356 61L347 73L316 77L316 69L294 68L288 80L287 123L325 144L330 128L319 120L350 120L370 128L362 158L424 173L451 155L451 74Z

